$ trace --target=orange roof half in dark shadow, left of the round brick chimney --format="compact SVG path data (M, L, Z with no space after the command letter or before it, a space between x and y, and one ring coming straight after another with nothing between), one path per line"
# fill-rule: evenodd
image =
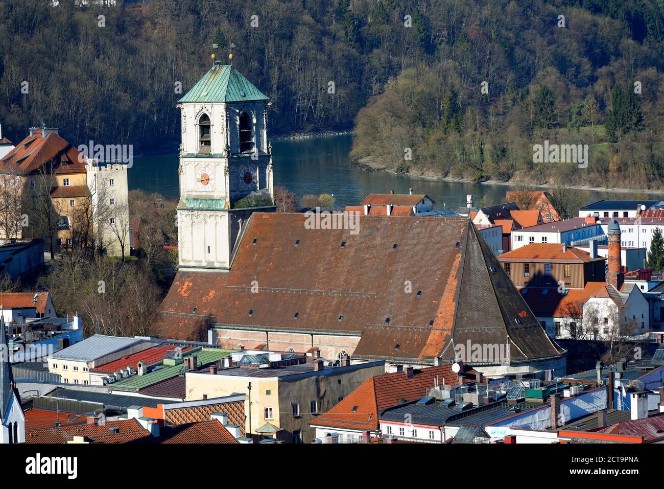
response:
M526 290L524 293L523 290ZM582 289L570 288L567 294L558 294L554 288L523 287L519 288L521 295L528 303L535 316L546 318L577 318L583 310L583 305L591 297L599 297L602 289L606 292L604 282L588 282ZM546 290L546 294L543 294ZM608 294L606 295L608 297Z

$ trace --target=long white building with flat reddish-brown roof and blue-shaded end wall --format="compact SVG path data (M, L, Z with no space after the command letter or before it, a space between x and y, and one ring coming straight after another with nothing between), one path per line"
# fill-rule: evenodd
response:
M606 241L604 229L592 217L572 217L512 231L513 250L532 243L576 246L587 244L590 240L596 240L598 244Z

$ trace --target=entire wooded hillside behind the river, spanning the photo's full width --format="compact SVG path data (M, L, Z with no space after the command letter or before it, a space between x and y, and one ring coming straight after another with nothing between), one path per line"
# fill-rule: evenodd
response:
M357 124L353 157L372 167L645 188L664 175L663 12L664 0L3 0L0 122L12 140L44 122L76 144L175 147L178 82L193 86L216 43L272 98L272 134ZM544 140L589 144L590 165L533 163Z

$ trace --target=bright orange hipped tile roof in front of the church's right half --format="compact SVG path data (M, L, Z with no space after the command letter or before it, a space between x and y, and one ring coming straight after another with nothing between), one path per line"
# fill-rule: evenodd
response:
M475 371L469 370L467 373L474 374ZM406 401L421 399L426 395L427 389L434 387L436 377L438 385L458 383L457 374L452 371L452 365L449 364L415 370L412 377L408 377L405 371L375 375L310 424L376 430L380 411L398 404L399 399Z

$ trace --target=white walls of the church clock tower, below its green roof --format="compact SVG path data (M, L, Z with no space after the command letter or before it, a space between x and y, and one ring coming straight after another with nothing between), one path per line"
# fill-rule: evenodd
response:
M234 243L251 214L232 207L252 194L274 201L266 102L182 102L178 107L182 111L179 268L228 270ZM241 117L252 128L253 151L241 150ZM205 128L199 122L207 118L209 147L204 147Z

